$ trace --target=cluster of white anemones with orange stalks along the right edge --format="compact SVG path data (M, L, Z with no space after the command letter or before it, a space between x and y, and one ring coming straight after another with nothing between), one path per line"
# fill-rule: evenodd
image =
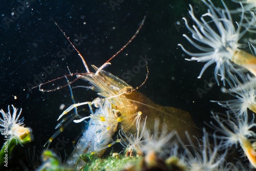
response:
M214 76L223 93L233 96L232 100L214 101L227 109L226 114L212 113L214 121L211 127L216 131L215 139L220 139L216 146L230 151L232 145L242 147L242 155L256 168L254 112L256 112L256 57L255 40L250 37L256 30L256 2L235 1L240 7L229 9L223 1L217 7L210 0L203 0L208 11L197 18L190 5L189 14L195 22L191 26L186 18L185 26L192 34L183 35L200 52L190 52L179 44L182 50L191 56L189 61L206 62L198 78L210 65L216 65ZM232 16L240 17L233 20ZM244 42L247 43L244 43ZM246 51L245 49L250 49ZM214 147L214 148L216 148ZM225 156L223 153L222 156Z

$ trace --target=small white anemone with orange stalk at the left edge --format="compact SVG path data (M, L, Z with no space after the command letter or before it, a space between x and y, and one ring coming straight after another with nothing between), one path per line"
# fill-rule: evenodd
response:
M12 113L10 111L10 105L8 106L8 113L5 113L3 109L0 110L2 118L0 118L1 134L5 136L5 139L9 139L9 142L13 138L16 140L16 144L23 144L31 141L31 129L24 127L24 118L19 119L22 109L20 109L17 115L17 109L12 105Z

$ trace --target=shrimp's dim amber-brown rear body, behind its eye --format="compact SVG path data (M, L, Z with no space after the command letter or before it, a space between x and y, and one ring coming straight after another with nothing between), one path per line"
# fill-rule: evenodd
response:
M159 120L160 125L163 123L167 124L167 129L169 132L176 130L184 141L186 140L185 131L189 132L190 135L201 135L201 130L194 125L193 118L188 112L170 106L161 106L156 104L138 91L133 91L131 94L125 94L124 96L131 102L132 105L136 106L134 107L136 111L142 112L141 122L144 122L145 117L147 117L146 126L149 130L151 130L151 132L154 131L154 123L157 119ZM132 113L136 111L133 111ZM136 127L130 126L131 122L121 123L124 130L125 127L129 127L127 131L131 133L136 132Z

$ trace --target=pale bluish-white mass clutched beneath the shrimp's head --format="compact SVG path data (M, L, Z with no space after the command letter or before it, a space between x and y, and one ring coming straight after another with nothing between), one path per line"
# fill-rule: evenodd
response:
M95 112L90 115L91 119L87 124L86 131L82 133L74 151L70 155L67 161L68 165L77 164L77 168L81 168L86 164L86 162L80 159L81 155L96 153L96 155L100 156L104 153L104 149L102 148L112 141L112 137L117 128L117 122L113 124L111 121L107 121L115 117L104 111L111 109L106 105L109 105L107 101L102 103L102 108L96 109Z

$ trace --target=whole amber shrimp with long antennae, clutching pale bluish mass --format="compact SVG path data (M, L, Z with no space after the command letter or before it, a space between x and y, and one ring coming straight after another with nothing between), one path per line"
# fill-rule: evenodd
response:
M139 87L133 88L125 81L103 70L106 66L111 64L109 61L113 59L127 45L129 45L130 42L135 38L135 36L142 28L144 20L145 17L143 18L140 27L133 35L133 37L114 56L112 56L99 68L92 65L95 72L89 71L89 67L87 66L86 61L83 59L78 50L73 46L72 42L70 42L78 52L84 67L87 70L87 73L76 75L77 79L89 81L92 86L87 88L97 92L100 97L94 99L92 102L86 101L75 103L73 100L74 104L63 111L63 113L58 118L59 120L68 114L71 110L75 109L75 116L77 116L79 119L75 119L74 122L87 123L86 131L83 132L81 138L76 144L74 151L72 152L70 158L67 160L68 165L76 165L76 168L81 169L86 164L86 161L81 159L83 154L94 154L101 156L107 147L110 147L115 142L118 142L118 140L113 142L112 138L114 134L120 129L123 129L124 132L129 134L136 133L136 120L138 120L139 117L141 117L142 123L146 117L148 118L147 127L150 131L154 131L154 122L157 119L159 120L159 124L165 123L168 125L168 132L176 130L177 132L181 133L181 137L182 133L184 134L185 131L189 131L190 134L193 135L195 135L197 132L197 127L193 125L194 122L189 113L172 107L164 107L155 104L153 101L137 91ZM61 32L65 35L62 30ZM66 38L68 39L67 36ZM141 86L144 84L144 82L141 84ZM69 82L68 84L70 86ZM41 89L41 91L44 90ZM72 91L71 95L73 99ZM77 114L76 108L81 105L89 106L91 113L90 116L81 117ZM70 120L73 120L75 116L71 115L68 123ZM66 118L62 119L61 123L66 120ZM56 132L48 140L48 142L50 143L62 131L63 127L61 127L60 131Z

